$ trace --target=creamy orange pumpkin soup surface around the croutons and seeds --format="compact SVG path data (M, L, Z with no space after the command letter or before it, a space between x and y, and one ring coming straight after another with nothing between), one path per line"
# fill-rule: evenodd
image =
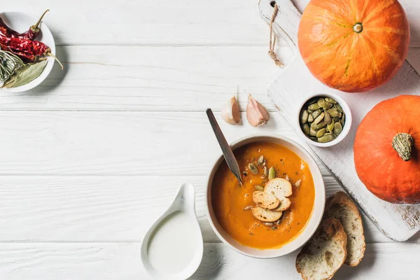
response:
M315 188L311 172L306 162L298 155L279 144L256 142L238 148L235 152L241 171L243 186L230 172L225 161L216 171L211 186L211 204L218 223L233 239L245 246L267 249L278 248L292 241L304 229L314 208ZM266 160L266 167L276 169L276 177L290 178L293 195L290 208L283 212L279 225L267 227L264 222L254 218L246 207L255 203L252 194L255 185L265 186L268 179L262 179L262 166L258 166L258 174L248 170L249 163L255 163L260 155ZM300 186L295 182L301 180Z

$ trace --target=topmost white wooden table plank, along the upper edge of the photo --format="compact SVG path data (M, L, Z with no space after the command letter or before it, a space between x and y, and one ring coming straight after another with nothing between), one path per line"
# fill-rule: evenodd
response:
M308 0L297 0L302 12ZM25 1L7 10L38 17L59 45L268 45L267 25L255 13L258 1ZM411 46L420 46L420 3L400 0L412 29ZM118 55L115 48L111 55Z

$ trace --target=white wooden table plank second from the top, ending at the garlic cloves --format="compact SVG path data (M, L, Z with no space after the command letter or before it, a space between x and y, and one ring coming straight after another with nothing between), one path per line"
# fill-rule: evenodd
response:
M0 91L1 110L204 111L221 106L242 87L265 102L265 89L279 68L267 46L136 47L71 46L57 48L57 64L29 92ZM289 62L288 47L279 48ZM274 109L266 103L268 109Z

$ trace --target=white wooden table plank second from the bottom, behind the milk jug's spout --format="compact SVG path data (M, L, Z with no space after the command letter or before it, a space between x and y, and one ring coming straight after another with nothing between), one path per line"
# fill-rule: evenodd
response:
M141 241L183 182L196 188L206 242L220 242L207 221L207 176L3 176L0 241ZM327 195L342 188L324 173ZM369 242L391 240L365 216ZM410 240L420 243L420 237Z

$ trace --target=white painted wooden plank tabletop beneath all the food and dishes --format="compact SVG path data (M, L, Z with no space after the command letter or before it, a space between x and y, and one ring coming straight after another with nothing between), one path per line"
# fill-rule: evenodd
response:
M299 0L302 10L308 0ZM263 128L221 123L229 141L274 132L299 141L265 88L278 68L257 1L8 1L40 15L57 42L50 78L0 92L0 279L146 279L139 248L176 188L197 189L204 259L193 279L299 279L296 253L246 258L207 222L204 184L220 149L204 109L218 112L237 85L272 111ZM420 2L409 62L420 71ZM283 61L290 50L280 42ZM246 95L239 96L241 109ZM244 113L243 113L244 119ZM340 187L325 170L327 194ZM364 219L367 249L337 279L419 279L420 235L396 243ZM263 272L263 273L262 273Z

